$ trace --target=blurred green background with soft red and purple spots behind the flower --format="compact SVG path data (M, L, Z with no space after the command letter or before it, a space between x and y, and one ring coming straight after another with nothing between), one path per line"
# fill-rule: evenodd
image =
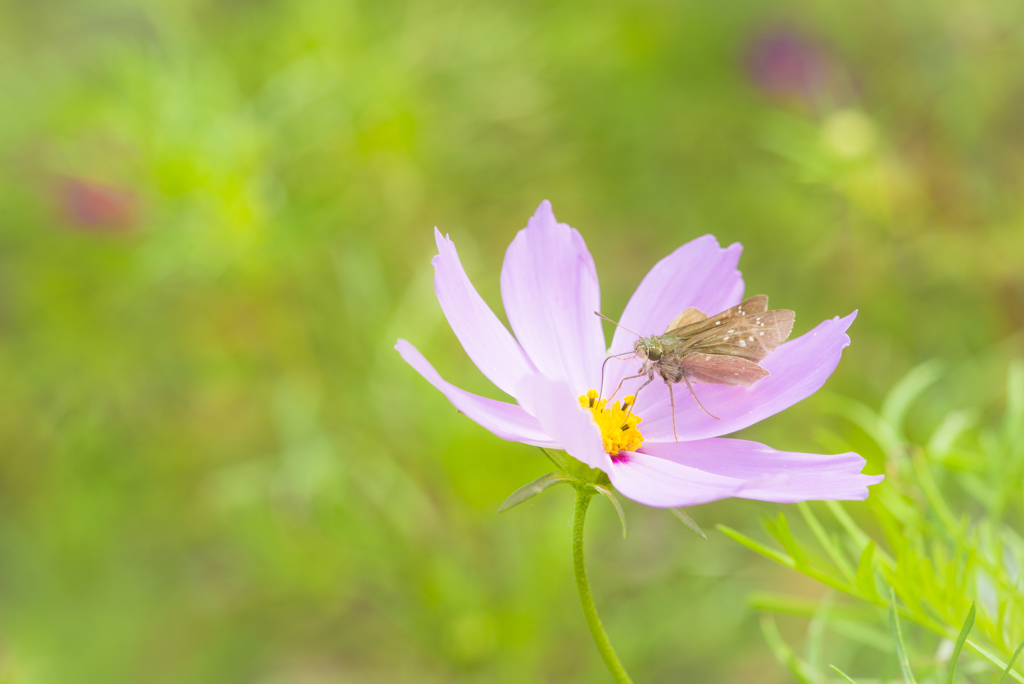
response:
M827 451L826 393L1024 351L1024 7L1011 0L0 5L0 682L603 682L571 491L402 364L489 396L432 227L500 310L543 199L609 315L697 236L796 333L854 308L825 392L745 432ZM609 338L610 339L610 338ZM934 408L933 408L934 407ZM865 446L869 472L883 468ZM820 594L713 530L595 504L638 682L784 682L751 591ZM850 507L856 511L855 506ZM782 586L784 585L784 586Z

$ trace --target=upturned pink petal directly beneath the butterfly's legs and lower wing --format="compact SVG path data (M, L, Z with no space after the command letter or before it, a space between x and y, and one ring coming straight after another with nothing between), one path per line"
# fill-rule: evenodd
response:
M697 407L683 383L675 385L676 430L681 441L730 434L763 421L818 391L836 370L843 349L850 346L847 329L857 317L854 311L845 318L825 320L805 335L778 347L761 361L771 373L753 387L693 385L700 402L715 420ZM608 364L611 366L611 362ZM620 393L624 396L639 381L630 381ZM672 433L672 409L669 389L657 376L640 393L637 413L643 418L640 430L645 444L675 441Z

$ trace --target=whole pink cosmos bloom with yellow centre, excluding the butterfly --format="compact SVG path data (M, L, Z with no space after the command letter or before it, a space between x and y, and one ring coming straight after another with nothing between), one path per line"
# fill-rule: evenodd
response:
M601 364L629 351L640 335L662 335L683 309L709 314L738 304L743 281L736 264L741 247L721 248L712 236L689 242L659 261L633 294L605 346L594 260L580 233L555 220L543 202L505 254L502 301L513 337L476 293L455 244L435 228L434 291L466 353L515 403L471 394L447 382L406 340L395 349L461 413L503 439L564 450L603 471L618 491L647 506L671 508L727 497L778 503L863 500L882 475L864 475L856 454L822 456L779 452L743 439L722 438L772 416L817 391L836 370L856 311L821 323L783 343L761 365L770 376L752 387L696 385L715 420L688 392L677 392L673 436L669 390L660 378L638 397L623 429L617 402L588 408L601 391ZM604 391L638 361L608 361ZM627 390L644 380L627 381ZM593 394L591 394L593 396ZM606 395L606 394L605 394ZM616 413L617 412L617 413Z

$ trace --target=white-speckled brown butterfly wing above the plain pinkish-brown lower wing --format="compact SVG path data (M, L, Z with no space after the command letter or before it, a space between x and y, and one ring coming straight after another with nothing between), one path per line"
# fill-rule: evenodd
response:
M729 320L688 340L679 352L735 356L757 362L790 337L795 316L788 309L776 309Z

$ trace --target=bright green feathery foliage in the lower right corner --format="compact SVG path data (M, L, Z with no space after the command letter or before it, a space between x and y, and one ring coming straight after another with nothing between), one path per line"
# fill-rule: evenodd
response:
M820 636L814 632L828 629L889 654L907 684L964 681L957 679L956 662L965 645L973 655L971 672L987 670L1000 673L999 682L1024 682L1013 668L1024 640L1024 509L1019 496L1024 365L1010 370L1006 413L996 426L978 427L969 414L951 411L926 443L918 443L906 436L907 412L940 375L937 364L918 367L896 384L878 412L849 399L833 403L886 456L888 476L868 504L872 521L859 522L838 502L798 504L816 545L795 535L779 513L774 521L765 521L765 528L780 548L720 526L748 548L829 587L834 591L826 600L835 600L837 592L855 599L837 601L827 610L793 597L752 599L763 613L769 646L801 682L837 681L831 674L839 674L839 681L866 680L854 680L836 667L826 674L811 657L798 657L782 642L772 613L812 617L809 653L820 651ZM828 518L820 517L822 509ZM887 612L889 640L880 638L879 630ZM934 655L926 655L929 649Z

